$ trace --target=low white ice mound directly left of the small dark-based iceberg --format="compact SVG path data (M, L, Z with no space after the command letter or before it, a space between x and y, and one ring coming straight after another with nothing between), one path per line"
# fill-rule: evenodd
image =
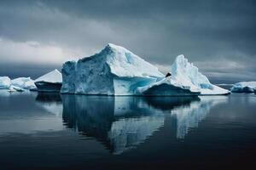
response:
M36 88L34 81L30 77L19 77L11 81L11 84L18 88L32 89Z

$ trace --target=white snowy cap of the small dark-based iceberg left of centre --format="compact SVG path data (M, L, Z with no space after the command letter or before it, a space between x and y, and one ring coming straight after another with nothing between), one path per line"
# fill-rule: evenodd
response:
M52 82L52 83L61 83L62 75L58 70L50 71L49 73L43 75L42 77L38 77L35 82Z

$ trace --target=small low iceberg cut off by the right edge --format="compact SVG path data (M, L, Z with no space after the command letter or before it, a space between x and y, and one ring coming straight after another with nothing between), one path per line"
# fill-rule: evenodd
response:
M256 92L256 82L237 82L230 89L232 93L251 94Z

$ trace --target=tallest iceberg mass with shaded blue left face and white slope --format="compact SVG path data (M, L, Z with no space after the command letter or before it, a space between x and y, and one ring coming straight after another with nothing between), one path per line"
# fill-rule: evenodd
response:
M164 77L131 51L109 43L99 54L67 61L62 68L63 94L134 95L137 87Z

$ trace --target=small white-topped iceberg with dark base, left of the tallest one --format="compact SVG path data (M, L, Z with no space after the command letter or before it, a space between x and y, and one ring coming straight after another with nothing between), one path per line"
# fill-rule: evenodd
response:
M38 92L60 92L62 84L62 75L58 70L50 71L42 77L35 80Z

